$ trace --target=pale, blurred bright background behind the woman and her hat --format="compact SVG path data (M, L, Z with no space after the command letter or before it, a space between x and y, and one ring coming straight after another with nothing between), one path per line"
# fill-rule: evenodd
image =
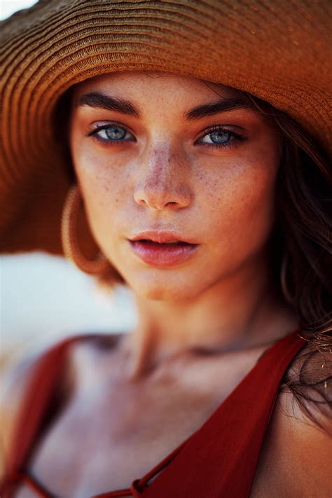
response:
M0 18L36 0L0 0ZM130 291L104 293L64 258L41 252L0 256L0 368L77 333L127 331L136 314Z

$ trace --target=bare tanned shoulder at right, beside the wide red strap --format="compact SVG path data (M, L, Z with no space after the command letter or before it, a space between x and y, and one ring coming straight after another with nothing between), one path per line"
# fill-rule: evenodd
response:
M251 498L331 498L332 353L303 348L286 373Z

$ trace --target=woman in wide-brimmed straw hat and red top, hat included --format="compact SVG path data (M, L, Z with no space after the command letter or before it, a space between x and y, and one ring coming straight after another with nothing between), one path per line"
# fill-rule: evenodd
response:
M4 496L331 495L327 8L5 23L3 251L126 284L139 320L21 371Z

